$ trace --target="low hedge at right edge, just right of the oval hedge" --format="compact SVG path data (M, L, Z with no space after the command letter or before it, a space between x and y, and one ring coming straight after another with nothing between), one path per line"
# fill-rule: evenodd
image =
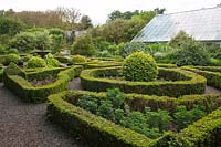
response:
M212 67L212 69L211 67L197 67L196 69L192 66L183 66L182 69L204 76L207 78L208 85L221 90L221 72L217 72L217 71L219 71L220 67ZM215 71L215 72L211 72L211 71Z

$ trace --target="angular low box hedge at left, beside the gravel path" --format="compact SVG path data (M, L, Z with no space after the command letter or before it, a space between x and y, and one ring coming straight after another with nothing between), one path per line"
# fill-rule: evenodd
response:
M49 95L67 90L69 82L78 76L81 70L81 66L72 66L69 69L38 69L27 73L11 63L6 69L3 84L25 102L42 103L46 101ZM49 76L55 77L56 81L43 86L33 86L29 82L32 80L45 80Z

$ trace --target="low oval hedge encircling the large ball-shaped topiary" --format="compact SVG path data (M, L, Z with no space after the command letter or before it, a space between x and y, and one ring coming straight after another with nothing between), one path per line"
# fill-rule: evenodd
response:
M196 73L179 69L159 67L159 77L166 82L129 82L119 80L101 78L99 76L119 75L120 67L104 67L85 70L81 73L84 90L104 92L107 88L118 87L125 93L139 93L149 95L167 95L178 97L188 94L202 94L207 80Z

